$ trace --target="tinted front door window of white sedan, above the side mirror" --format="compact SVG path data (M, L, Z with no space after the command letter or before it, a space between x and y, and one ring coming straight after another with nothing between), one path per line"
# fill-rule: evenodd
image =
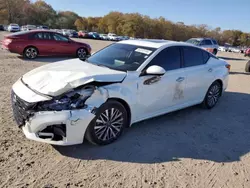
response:
M154 57L154 59L152 59L147 67L151 65L161 66L166 71L181 68L181 55L179 47L169 47L162 50Z

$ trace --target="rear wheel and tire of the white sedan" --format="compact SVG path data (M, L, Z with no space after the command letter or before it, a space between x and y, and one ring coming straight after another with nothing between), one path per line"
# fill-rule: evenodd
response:
M215 81L208 89L206 96L202 102L202 106L207 109L215 107L222 93L222 85Z

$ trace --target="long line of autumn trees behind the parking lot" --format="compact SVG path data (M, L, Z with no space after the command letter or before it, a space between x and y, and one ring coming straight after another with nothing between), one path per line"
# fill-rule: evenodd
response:
M0 0L0 24L47 25L55 29L77 29L116 33L136 38L186 41L192 37L212 37L221 45L250 46L250 33L221 30L205 24L185 25L164 17L151 18L139 13L112 11L103 17L80 17L72 11L55 11L43 0Z

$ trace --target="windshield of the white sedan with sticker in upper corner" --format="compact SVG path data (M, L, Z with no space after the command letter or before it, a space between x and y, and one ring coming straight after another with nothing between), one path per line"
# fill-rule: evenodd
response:
M135 71L156 48L115 43L95 53L87 62L120 71Z

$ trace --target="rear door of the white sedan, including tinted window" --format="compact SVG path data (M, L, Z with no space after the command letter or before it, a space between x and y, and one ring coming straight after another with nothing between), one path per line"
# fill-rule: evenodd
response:
M182 49L186 73L185 103L201 102L213 82L213 69L207 64L211 55L196 47Z

